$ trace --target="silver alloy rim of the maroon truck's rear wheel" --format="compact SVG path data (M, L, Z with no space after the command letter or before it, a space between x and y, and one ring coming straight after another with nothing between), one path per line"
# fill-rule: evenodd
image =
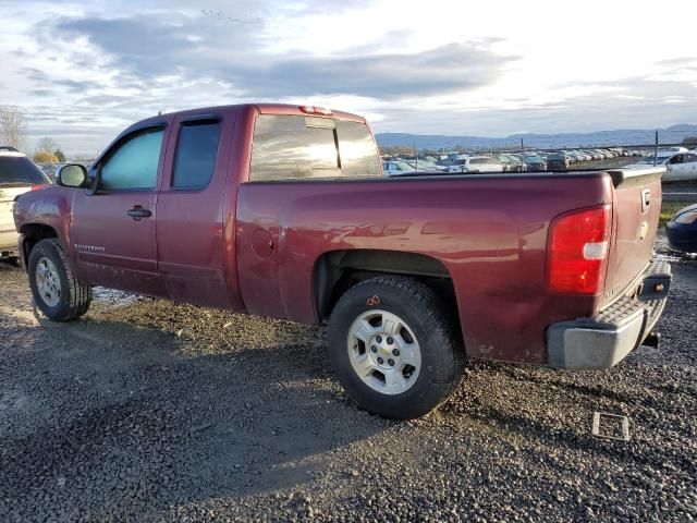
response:
M421 368L421 351L409 326L387 311L368 311L348 328L348 358L356 375L383 394L411 389Z

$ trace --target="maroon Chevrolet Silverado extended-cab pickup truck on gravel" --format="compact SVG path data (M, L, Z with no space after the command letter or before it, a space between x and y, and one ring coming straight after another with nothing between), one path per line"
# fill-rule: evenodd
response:
M670 285L651 262L662 170L383 178L365 120L241 105L154 117L14 219L36 304L91 285L328 323L347 393L394 418L457 387L467 357L608 368Z

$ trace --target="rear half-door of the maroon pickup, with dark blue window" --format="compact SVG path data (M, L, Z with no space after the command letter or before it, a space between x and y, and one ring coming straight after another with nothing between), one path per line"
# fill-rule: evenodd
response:
M156 226L158 268L172 300L232 306L224 256L234 252L225 252L223 199L234 114L189 114L173 122Z

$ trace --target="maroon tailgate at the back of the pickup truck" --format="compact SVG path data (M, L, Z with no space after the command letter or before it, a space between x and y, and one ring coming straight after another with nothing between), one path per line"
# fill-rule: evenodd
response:
M613 236L601 306L623 295L651 258L664 171L660 167L608 171L614 185Z

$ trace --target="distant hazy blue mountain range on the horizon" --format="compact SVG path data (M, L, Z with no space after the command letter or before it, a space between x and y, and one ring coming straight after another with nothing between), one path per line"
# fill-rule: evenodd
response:
M380 146L408 146L418 149L452 149L456 147L489 149L518 148L521 141L526 148L611 147L627 145L680 144L687 136L697 136L697 125L678 124L659 130L625 129L596 131L592 133L512 134L505 137L447 136L440 134L378 133Z

